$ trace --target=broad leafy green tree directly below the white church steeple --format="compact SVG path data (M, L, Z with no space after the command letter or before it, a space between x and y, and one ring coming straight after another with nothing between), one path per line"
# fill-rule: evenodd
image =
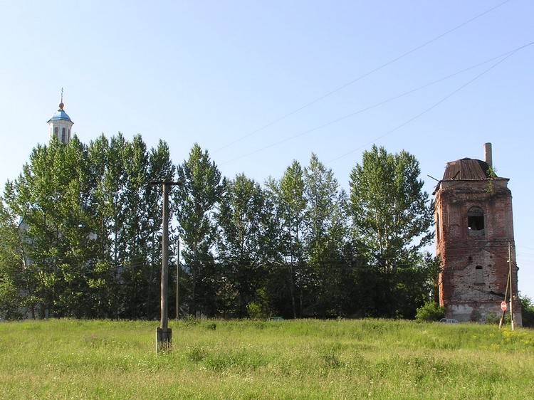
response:
M26 290L32 313L41 317L83 316L88 293L85 273L93 239L86 222L89 190L85 145L74 136L65 145L51 140L33 149L30 162L5 189L11 213L21 217Z

